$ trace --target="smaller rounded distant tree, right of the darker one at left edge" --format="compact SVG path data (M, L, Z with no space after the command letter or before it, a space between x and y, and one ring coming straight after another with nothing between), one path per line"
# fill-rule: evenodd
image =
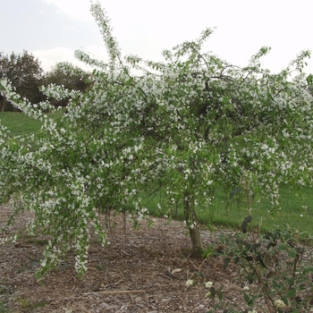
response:
M44 85L62 85L65 89L85 91L89 86L89 73L69 62L56 63L50 72L47 72ZM69 98L51 99L55 106L67 106Z

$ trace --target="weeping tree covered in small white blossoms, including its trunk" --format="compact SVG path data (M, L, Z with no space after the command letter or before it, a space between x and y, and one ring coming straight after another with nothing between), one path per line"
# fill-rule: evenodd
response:
M0 81L5 97L44 121L27 141L11 138L4 127L0 139L0 201L12 199L14 214L34 210L30 232L52 238L40 274L69 249L83 273L90 232L107 242L99 213L146 216L142 191L164 191L162 212L183 207L199 252L196 208L213 204L216 185L242 187L248 200L259 190L279 207L280 184L311 183L313 101L301 72L308 51L271 74L261 68L269 51L262 47L241 68L201 51L213 31L207 29L197 40L165 50L162 63L123 58L104 10L96 3L90 11L109 61L77 51L95 66L89 89L42 88L49 98L70 97L61 119L42 113L55 111L48 101L31 106Z

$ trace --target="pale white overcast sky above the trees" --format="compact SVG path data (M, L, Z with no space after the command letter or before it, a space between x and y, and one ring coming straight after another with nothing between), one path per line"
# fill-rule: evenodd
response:
M312 0L99 0L123 55L162 60L161 51L216 27L206 51L244 65L262 46L272 47L264 64L280 71L303 49L313 50ZM106 59L89 0L0 0L0 51L28 50L45 71L82 49ZM313 56L312 56L313 57ZM306 72L313 72L309 61Z

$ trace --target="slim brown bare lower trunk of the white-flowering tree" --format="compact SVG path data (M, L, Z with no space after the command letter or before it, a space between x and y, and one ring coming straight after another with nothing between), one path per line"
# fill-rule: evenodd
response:
M189 225L189 233L192 244L192 252L199 256L202 252L202 241L200 237L200 229L198 218L194 210L192 195L186 192L184 195L184 215L186 224Z

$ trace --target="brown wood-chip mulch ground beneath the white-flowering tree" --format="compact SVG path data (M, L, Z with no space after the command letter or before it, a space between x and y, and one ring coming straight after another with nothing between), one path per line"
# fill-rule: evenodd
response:
M8 227L9 213L10 207L0 207L0 237L21 229L30 218L30 212L25 212ZM152 228L143 224L140 230L132 230L129 224L124 228L122 217L114 217L118 223L110 233L110 245L91 244L84 280L74 271L73 256L36 280L47 242L42 236L24 235L15 245L0 246L0 313L207 312L214 305L214 300L206 298L204 282L208 281L216 287L224 283L224 291L242 301L237 269L224 270L218 257L192 258L182 223L156 219ZM216 242L220 232L224 231L203 230L204 247ZM177 273L171 275L173 270ZM195 277L199 283L186 287L186 281Z

